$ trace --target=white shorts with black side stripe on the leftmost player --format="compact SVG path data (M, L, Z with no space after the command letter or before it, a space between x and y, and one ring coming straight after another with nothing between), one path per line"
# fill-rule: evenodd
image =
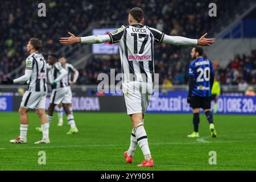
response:
M26 91L22 97L20 107L26 109L46 109L47 92L28 92Z

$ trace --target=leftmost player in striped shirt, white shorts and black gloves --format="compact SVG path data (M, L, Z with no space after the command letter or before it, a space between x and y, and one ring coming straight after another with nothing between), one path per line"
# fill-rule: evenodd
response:
M19 108L20 115L20 136L10 140L11 143L27 143L28 110L36 109L36 114L41 121L43 138L35 144L49 142L49 123L46 117L46 95L47 95L47 70L46 60L38 51L42 48L39 39L31 38L27 44L27 51L30 56L26 59L25 75L10 80L2 81L2 84L26 84L28 90L24 93Z

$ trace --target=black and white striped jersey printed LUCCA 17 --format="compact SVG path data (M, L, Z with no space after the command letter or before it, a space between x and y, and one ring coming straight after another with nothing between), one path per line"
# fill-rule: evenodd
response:
M131 24L122 26L109 34L110 43L119 44L123 82L154 82L154 42L161 43L164 33L143 26Z

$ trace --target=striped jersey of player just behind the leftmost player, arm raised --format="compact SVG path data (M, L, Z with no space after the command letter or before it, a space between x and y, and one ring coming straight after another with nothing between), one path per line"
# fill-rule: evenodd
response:
M57 77L59 77L61 69L63 69L63 67L59 62L51 66L51 69L48 72L49 82L53 82ZM67 87L65 78L66 77L62 78L59 82L57 82L56 88L54 89Z

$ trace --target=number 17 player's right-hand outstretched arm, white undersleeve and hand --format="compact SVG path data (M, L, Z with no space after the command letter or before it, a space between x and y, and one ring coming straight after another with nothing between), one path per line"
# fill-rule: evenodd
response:
M163 43L174 44L178 46L210 46L215 42L215 39L205 38L208 34L204 34L200 39L189 39L182 36L164 35Z

